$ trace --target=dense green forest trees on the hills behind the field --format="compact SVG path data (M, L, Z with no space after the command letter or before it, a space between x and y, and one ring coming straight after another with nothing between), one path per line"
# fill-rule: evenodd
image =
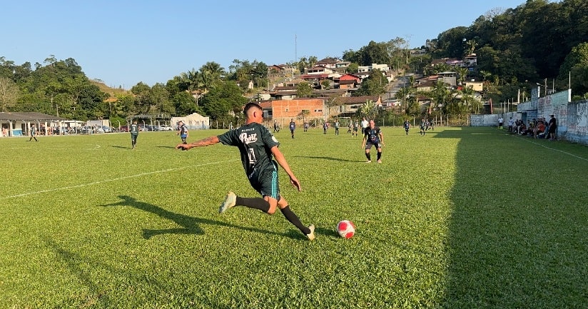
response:
M352 72L358 66L376 63L388 64L397 72L432 74L434 70L445 69L432 69L432 59L462 59L474 53L477 66L460 75L462 79L484 81L485 100L507 101L516 98L519 91L529 93L537 83L545 88L549 83L549 89L555 91L571 85L574 99L588 98L585 0L528 0L516 8L493 9L470 26L443 31L420 49L425 49L424 56L411 57L405 39L370 41L358 51L343 51L341 59L352 62ZM316 56L304 56L289 64L303 71L317 60ZM79 120L123 120L138 113L179 116L198 112L219 121L232 121L239 114L234 112L253 97L248 93L249 81L253 80L256 89L263 89L268 86L268 73L263 62L235 59L225 70L210 61L198 70L173 76L166 83L137 83L130 91L123 91L101 88L71 58L58 60L51 55L43 64L16 65L0 56L0 111L38 111ZM374 83L368 81L358 93L382 92L381 87L370 85ZM479 112L476 109L479 106L473 104L460 113ZM410 108L400 111L418 112ZM445 111L448 112L451 111Z

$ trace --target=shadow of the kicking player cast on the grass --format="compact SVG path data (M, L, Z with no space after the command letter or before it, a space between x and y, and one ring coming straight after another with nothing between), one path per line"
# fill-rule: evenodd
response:
M141 211L147 211L149 213L153 213L161 218L171 220L181 226L181 228L165 228L161 230L152 230L143 228L143 238L149 239L156 235L164 235L164 234L194 234L194 235L203 235L204 231L200 227L202 224L208 226L226 226L229 228L238 228L243 231L250 231L255 233L263 233L263 234L270 234L270 235L280 235L280 236L288 236L290 238L297 238L290 235L290 233L276 233L267 230L261 230L259 228L244 228L243 226L235 226L234 224L225 223L221 221L214 221L210 219L204 218L197 218L192 216L182 215L180 213L173 213L171 211L167 211L159 206L155 206L150 203L145 203L141 201L137 201L136 198L131 196L118 196L121 198L122 201L118 203L111 203L106 205L101 205L103 207L107 206L131 206L133 208L137 208ZM298 237L300 238L300 237Z

